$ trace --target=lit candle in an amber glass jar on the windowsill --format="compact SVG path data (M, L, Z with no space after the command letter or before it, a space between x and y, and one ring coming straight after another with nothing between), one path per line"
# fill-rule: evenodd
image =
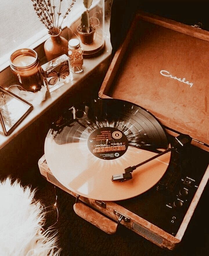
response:
M37 53L30 49L15 51L10 57L10 68L27 91L39 91L44 85Z

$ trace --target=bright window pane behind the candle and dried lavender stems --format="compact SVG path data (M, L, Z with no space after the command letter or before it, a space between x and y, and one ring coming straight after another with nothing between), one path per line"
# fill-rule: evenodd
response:
M47 29L40 22L31 0L1 1L0 8L0 66L9 60L12 52L23 47L30 47L37 40L47 34ZM53 0L51 0L53 2ZM77 3L78 2L78 3ZM83 1L77 0L77 7ZM54 0L59 6L60 0ZM71 0L62 1L61 12L66 12ZM72 17L74 6L69 17ZM66 19L66 21L67 21ZM65 22L66 22L65 21Z

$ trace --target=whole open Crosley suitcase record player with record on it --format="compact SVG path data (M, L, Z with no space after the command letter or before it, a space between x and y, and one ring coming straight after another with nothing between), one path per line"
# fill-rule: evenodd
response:
M138 13L99 98L52 124L39 169L79 216L181 241L209 178L208 49L208 32Z

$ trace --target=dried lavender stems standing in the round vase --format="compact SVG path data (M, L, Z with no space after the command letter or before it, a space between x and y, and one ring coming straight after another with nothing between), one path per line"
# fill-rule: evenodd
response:
M33 8L36 14L38 15L40 21L48 29L49 34L57 35L61 30L63 20L66 18L66 16L70 12L76 0L72 0L72 3L67 9L66 13L62 16L62 22L60 22L60 24L59 24L59 19L60 19L60 15L62 14L60 12L62 0L60 0L59 10L56 12L58 16L57 21L55 17L56 6L54 5L54 0L53 0L53 4L51 3L51 0L31 0L31 1L33 2Z

